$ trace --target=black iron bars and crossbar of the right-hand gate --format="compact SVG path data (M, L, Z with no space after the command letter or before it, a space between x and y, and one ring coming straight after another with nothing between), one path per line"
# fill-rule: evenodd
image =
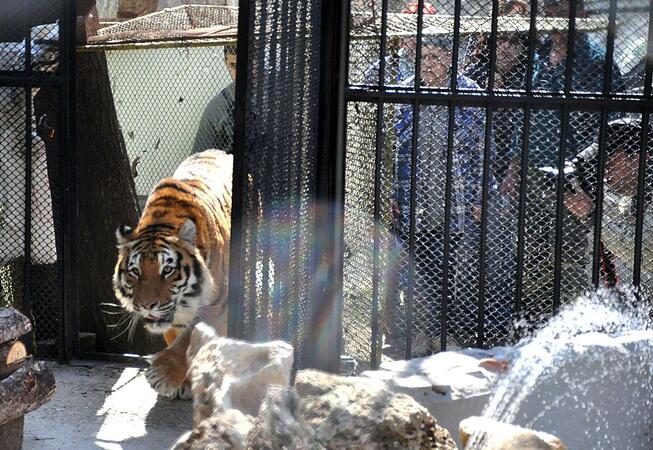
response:
M424 16L424 0L419 0L417 6L417 54L416 54L416 76L415 79L419 80L420 78L420 67L421 67L421 43L422 43L422 29L423 29L423 16ZM453 36L453 61L452 61L452 75L451 80L453 80L452 90L442 89L441 92L432 93L432 92L423 92L420 89L419 84L416 82L414 89L411 92L402 92L400 90L388 91L385 86L385 60L387 55L387 13L388 13L388 0L382 0L382 28L380 35L380 54L378 55L378 61L380 61L380 70L379 70L379 79L378 83L375 83L375 86L370 88L367 87L352 87L347 85L344 88L344 97L345 102L366 102L373 103L377 105L377 118L376 118L376 179L378 180L380 167L379 161L381 160L382 152L382 121L383 121L383 107L387 103L402 103L402 104L412 104L413 105L413 115L416 114L415 111L418 110L420 105L445 105L449 108L449 116L453 117L452 111L456 106L473 106L481 107L486 111L486 123L492 124L492 114L493 110L497 107L513 107L513 108L523 108L524 109L524 122L523 122L523 142L522 142L522 152L521 152L521 161L522 161L522 171L521 179L526 180L526 164L528 157L528 141L529 141L529 129L530 129L530 114L531 111L535 108L537 109L559 109L562 112L562 129L561 129L561 147L560 157L558 160L558 169L562 173L562 168L564 165L564 142L567 130L565 127L565 118L569 116L570 110L579 110L579 111L598 111L600 112L601 117L601 126L600 126L600 137L599 137L599 155L605 155L605 141L606 141L606 124L608 113L611 111L620 111L620 112L633 112L642 114L642 152L640 158L639 166L639 191L637 195L637 225L636 225L636 252L635 252L635 267L634 267L634 283L638 285L640 283L640 274L641 274L641 260L642 260L642 229L643 229L643 213L644 213L644 180L645 176L645 155L644 151L646 140L645 136L647 134L647 128L649 126L649 116L651 111L653 111L653 102L651 101L651 79L653 72L653 61L650 58L650 55L653 52L653 12L649 10L649 39L648 39L648 49L647 54L649 57L646 61L646 72L644 80L644 95L643 96L632 96L632 95L614 95L611 93L611 68L612 62L614 59L614 41L615 41L615 18L617 14L617 2L616 0L610 0L609 2L609 25L607 30L607 50L606 50L606 62L605 62L605 72L603 80L603 92L600 96L594 94L582 94L582 93L573 93L571 90L571 75L573 65L570 64L570 61L574 57L574 42L576 36L575 30L575 18L577 10L577 1L570 0L570 15L569 15L569 31L568 31L568 41L569 51L567 53L566 60L566 73L565 73L565 84L564 92L562 93L547 93L540 94L535 93L532 87L532 67L535 54L535 43L536 43L536 34L535 34L535 23L538 10L538 0L532 0L530 2L530 32L529 32L529 49L528 49L528 74L526 77L527 86L525 94L517 93L502 93L500 96L497 95L492 86L492 80L494 80L494 74L496 71L496 31L497 31L497 17L499 11L499 2L493 0L492 2L492 33L490 37L490 69L488 80L490 80L489 92L469 92L469 91L459 91L456 87L456 78L458 74L458 56L460 49L460 15L461 15L461 6L462 0L455 0L455 19L454 19L454 36ZM345 49L349 48L349 34L345 33L345 40L347 41L344 46ZM417 113L418 114L418 113ZM339 118L339 120L345 120L344 118ZM417 124L418 120L414 118L413 123ZM416 126L416 125L414 125ZM448 128L448 149L447 149L447 159L448 159L448 172L451 171L451 154L452 154L452 134L453 126L451 123ZM485 132L485 157L484 157L484 173L488 172L488 147L490 145L490 132L488 131L491 127L486 127ZM413 130L413 136L416 136L417 133ZM413 153L415 152L416 141L413 138ZM603 156L600 156L599 159L604 159ZM604 162L600 164L599 170L603 171ZM487 175L486 175L487 176ZM448 177L450 178L450 177ZM341 180L339 180L340 182ZM557 217L561 217L562 213L562 195L563 195L563 177L559 177L557 180L556 192L557 192ZM341 186L342 187L342 186ZM446 197L445 197L445 230L449 230L448 224L450 223L450 214L449 207L451 203L451 180L448 179L446 183ZM525 200L526 200L526 183L521 183L519 191L519 218L518 218L518 244L517 244L517 291L516 291L516 309L519 310L521 306L521 280L524 272L524 220L525 220ZM602 178L599 181L598 186L598 199L597 205L601 205L602 193L603 193L603 180ZM485 289L485 260L486 260L486 231L487 231L487 188L484 189L483 193L483 216L481 218L481 242L480 242L480 255L481 255L481 276L479 280L479 297L478 297L478 306L479 306L479 319L477 323L478 331L478 341L477 345L483 345L483 297ZM379 215L380 205L379 205L379 195L378 189L375 195L375 205L374 205L374 219L378 223L380 219ZM600 227L601 227L601 211L598 210L598 213L595 214L594 218L594 261L592 269L592 282L594 286L599 284L599 261L598 261L598 246L600 244ZM557 309L560 306L560 284L561 284L561 251L562 251L562 238L561 238L561 228L562 221L556 220L556 243L555 243L555 272L554 272L554 308ZM449 232L445 231L444 237L444 271L446 274L448 268L448 249L449 247ZM408 300L407 300L407 330L406 330L406 342L405 342L405 357L407 359L411 358L411 336L412 336L412 307L413 307L413 289L411 288L414 283L414 249L415 249L415 202L411 202L411 223L410 223L410 237L409 237L409 249L410 249L410 258L411 267L409 275L409 284L408 284ZM372 326L372 342L371 344L371 365L372 367L378 367L380 363L379 355L379 236L378 232L374 236L374 274L373 274L373 283L374 283L374 294L373 294L373 304L372 304L372 317L371 317L371 326ZM443 287L442 287L442 298L447 299L447 276L443 276ZM446 350L447 344L447 304L446 300L443 300L442 310L440 315L440 342L441 350Z

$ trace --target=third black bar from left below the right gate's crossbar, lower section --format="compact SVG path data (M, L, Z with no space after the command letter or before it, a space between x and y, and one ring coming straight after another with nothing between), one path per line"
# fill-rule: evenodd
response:
M457 0L459 2L460 0ZM460 13L460 10L458 11ZM453 182L453 136L455 133L453 102L449 102L447 121L447 164L444 183L444 245L442 251L442 308L440 310L440 350L447 350L447 315L449 306L449 253L451 250L451 190Z

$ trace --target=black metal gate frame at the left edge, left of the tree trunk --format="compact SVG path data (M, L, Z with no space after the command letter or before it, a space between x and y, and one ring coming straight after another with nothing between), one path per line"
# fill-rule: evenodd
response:
M58 135L58 178L62 182L59 189L58 209L62 224L56 230L56 239L62 242L63 254L59 256L57 292L59 300L59 330L57 337L57 358L65 361L76 355L77 349L77 206L76 206L76 158L75 158L75 24L76 2L61 0L59 2L59 70L52 73L33 70L31 58L31 2L25 2L24 30L25 70L0 71L0 85L20 87L25 90L25 148L32 146L32 89L38 87L55 88L58 91L58 114L56 130ZM26 172L31 173L31 154L26 152ZM23 280L23 311L30 315L32 301L31 287L31 176L25 177L25 267ZM28 341L31 336L25 337ZM28 345L31 342L28 342Z

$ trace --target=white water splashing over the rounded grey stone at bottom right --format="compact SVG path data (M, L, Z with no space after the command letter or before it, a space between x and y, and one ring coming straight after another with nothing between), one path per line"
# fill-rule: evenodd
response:
M484 417L562 437L574 432L560 423L560 417L568 412L572 419L574 415L587 417L581 419L586 428L575 430L581 440L600 437L601 446L605 443L601 448L640 448L613 441L625 428L637 433L653 427L652 312L650 303L633 288L579 297L512 349L511 369L498 383ZM596 352L597 348L609 350ZM637 379L624 379L629 374L638 374ZM606 392L597 399L596 391L601 389L597 386L611 383L623 386L624 392ZM641 392L646 392L642 386L649 386L651 395L642 398ZM609 396L622 394L624 401L628 395L635 396L640 406L624 406L615 424L615 409L606 405L611 405ZM615 433L616 429L621 432ZM474 436L467 448L484 447L484 438ZM653 448L653 444L642 448Z

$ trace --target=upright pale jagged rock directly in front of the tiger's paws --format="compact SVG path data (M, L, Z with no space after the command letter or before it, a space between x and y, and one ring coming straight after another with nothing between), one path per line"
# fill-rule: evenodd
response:
M173 449L245 449L268 389L290 383L292 346L227 339L199 323L187 356L194 429Z

